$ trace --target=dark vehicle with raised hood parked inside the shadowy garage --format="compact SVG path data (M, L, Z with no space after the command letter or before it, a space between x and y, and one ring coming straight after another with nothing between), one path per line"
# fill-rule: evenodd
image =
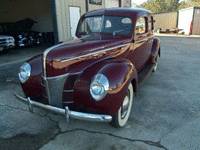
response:
M16 46L41 44L43 42L42 33L31 30L35 23L37 22L26 18L15 23L1 24L1 34L13 36Z

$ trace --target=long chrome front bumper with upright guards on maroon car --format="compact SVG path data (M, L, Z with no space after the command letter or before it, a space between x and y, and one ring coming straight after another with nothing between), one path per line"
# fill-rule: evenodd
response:
M23 103L28 104L30 112L33 112L33 107L42 108L49 112L64 115L66 117L67 122L69 121L69 118L74 118L74 119L84 120L84 121L95 121L95 122L111 122L112 121L112 117L110 115L98 115L98 114L76 112L76 111L69 110L67 106L65 107L65 109L62 109L62 108L57 108L50 105L45 105L39 102L35 102L31 100L29 97L24 98L16 93L15 93L15 96Z

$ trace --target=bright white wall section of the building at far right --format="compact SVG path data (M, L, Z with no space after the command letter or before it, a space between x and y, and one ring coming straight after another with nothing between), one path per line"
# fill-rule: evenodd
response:
M193 19L194 8L186 8L179 10L178 28L183 29L186 35L190 33L190 24Z

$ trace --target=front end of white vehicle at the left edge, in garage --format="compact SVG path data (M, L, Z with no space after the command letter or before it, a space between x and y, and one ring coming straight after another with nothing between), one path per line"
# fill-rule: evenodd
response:
M0 35L0 52L6 51L15 46L15 39L12 36Z

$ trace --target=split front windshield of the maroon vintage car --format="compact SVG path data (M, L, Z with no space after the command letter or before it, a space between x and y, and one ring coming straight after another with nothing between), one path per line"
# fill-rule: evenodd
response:
M119 16L94 16L81 20L78 32L81 35L90 33L112 33L113 35L129 35L132 31L132 20Z

